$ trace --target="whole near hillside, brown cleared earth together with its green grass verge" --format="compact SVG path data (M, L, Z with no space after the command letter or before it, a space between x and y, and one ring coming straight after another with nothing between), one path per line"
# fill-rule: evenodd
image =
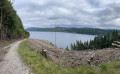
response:
M119 50L65 51L38 39L19 46L21 58L35 74L119 74Z

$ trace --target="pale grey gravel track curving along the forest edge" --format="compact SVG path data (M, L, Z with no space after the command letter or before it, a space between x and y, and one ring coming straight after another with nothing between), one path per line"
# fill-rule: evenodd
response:
M29 69L18 55L18 46L21 41L11 44L8 52L0 62L0 74L30 74Z

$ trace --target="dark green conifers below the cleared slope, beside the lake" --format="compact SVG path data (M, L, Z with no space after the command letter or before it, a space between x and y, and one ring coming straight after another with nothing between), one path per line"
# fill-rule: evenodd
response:
M109 32L105 35L98 35L89 42L76 41L71 44L72 50L87 50L87 49L103 49L112 46L114 41L120 41L120 35L117 30L114 30L112 34Z

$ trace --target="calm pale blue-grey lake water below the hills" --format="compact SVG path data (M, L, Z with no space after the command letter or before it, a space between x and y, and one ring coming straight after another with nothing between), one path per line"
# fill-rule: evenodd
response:
M71 49L71 43L75 43L76 40L85 42L87 40L89 41L90 39L94 39L94 37L94 35L56 32L56 46L63 49L68 46L68 48ZM47 40L55 45L55 32L30 31L30 38Z

